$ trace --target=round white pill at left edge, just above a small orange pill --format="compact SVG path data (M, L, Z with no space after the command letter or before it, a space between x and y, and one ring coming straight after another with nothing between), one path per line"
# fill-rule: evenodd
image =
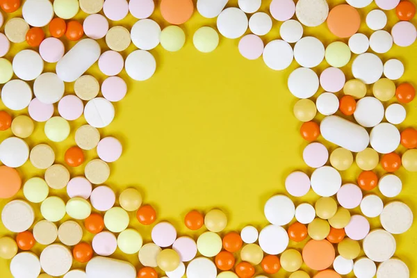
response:
M19 111L29 106L32 89L25 81L14 79L3 85L1 101L7 108Z

